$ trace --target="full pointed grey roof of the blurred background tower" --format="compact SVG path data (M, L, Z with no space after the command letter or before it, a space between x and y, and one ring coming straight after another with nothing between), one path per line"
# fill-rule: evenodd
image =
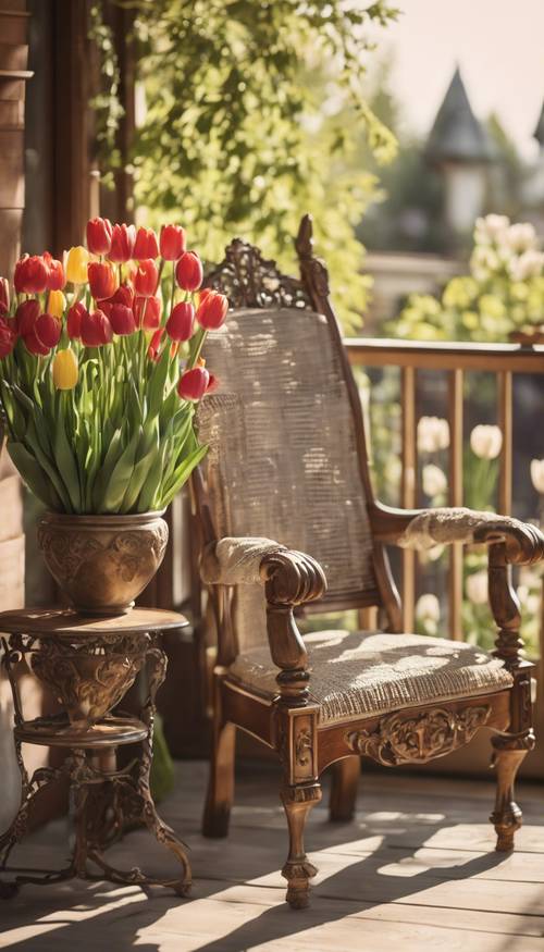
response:
M459 67L434 120L425 154L432 162L492 162L496 158L487 129L472 112Z

